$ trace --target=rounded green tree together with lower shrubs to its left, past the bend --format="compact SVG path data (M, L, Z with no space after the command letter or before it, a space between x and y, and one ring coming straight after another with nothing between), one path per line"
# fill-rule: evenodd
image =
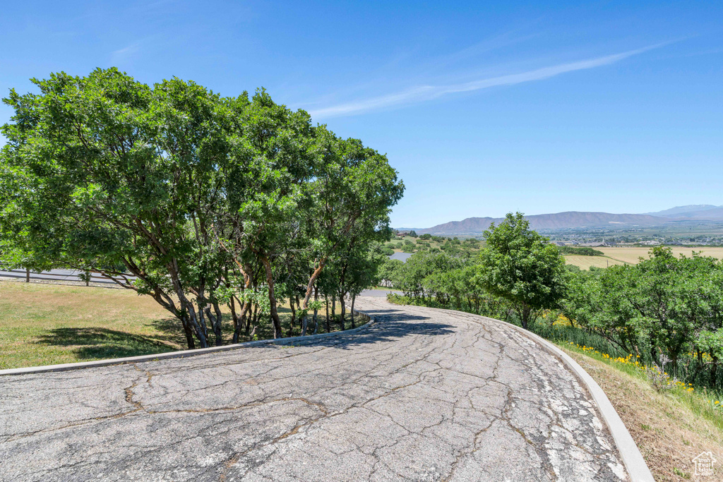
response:
M382 277L404 295L489 317L516 315L527 328L555 306L565 287L565 262L557 247L529 228L521 213L484 233L479 254L469 251L420 251L406 263L390 260ZM450 246L460 245L452 240Z

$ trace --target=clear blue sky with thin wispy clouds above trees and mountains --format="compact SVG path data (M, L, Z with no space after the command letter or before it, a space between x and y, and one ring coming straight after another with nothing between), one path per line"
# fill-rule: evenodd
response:
M396 227L723 205L722 19L714 1L14 1L0 92L98 66L265 87L388 155Z

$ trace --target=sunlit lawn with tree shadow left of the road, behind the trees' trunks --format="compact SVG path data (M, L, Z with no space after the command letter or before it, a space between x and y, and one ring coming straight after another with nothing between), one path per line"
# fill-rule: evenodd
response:
M337 306L337 314L338 310ZM279 314L288 336L288 305L280 307ZM225 315L224 343L231 343L233 324L230 314ZM257 327L258 339L273 337L266 318ZM319 332L325 331L324 319L320 313ZM338 330L338 322L331 326ZM351 327L348 316L346 327ZM291 335L300 335L299 331L296 323ZM0 280L0 369L184 348L181 322L150 296L123 289Z

